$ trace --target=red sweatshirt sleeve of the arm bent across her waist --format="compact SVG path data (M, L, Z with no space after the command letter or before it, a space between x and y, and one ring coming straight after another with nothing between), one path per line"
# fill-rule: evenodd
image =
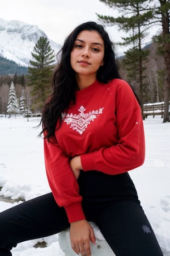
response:
M121 174L141 166L145 160L141 108L125 81L117 87L115 102L118 142L111 147L101 147L94 152L82 154L80 157L84 171Z

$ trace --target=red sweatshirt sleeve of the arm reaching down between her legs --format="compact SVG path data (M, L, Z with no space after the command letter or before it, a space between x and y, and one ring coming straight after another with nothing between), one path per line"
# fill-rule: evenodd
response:
M79 186L71 170L70 159L59 147L56 137L50 138L50 142L44 139L44 159L46 175L57 204L65 208L69 222L83 220Z

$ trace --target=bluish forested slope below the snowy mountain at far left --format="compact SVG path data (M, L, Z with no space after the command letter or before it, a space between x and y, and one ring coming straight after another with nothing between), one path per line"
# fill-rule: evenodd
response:
M15 73L18 73L18 75L27 74L28 69L0 56L0 75L11 75Z

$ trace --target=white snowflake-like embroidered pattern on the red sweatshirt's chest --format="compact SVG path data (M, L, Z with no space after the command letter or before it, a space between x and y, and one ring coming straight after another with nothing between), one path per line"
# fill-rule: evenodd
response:
M88 113L85 112L84 106L80 106L79 114L65 114L62 113L62 119L67 125L70 125L70 128L76 130L80 135L86 130L88 125L90 125L91 121L94 121L98 117L98 115L103 114L103 109L100 108L98 110L92 110Z

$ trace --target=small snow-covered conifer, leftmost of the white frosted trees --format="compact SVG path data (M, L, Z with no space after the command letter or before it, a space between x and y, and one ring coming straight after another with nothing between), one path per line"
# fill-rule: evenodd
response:
M11 114L19 114L19 104L18 99L16 97L15 86L13 81L11 82L9 90L7 113L9 114L9 117Z

